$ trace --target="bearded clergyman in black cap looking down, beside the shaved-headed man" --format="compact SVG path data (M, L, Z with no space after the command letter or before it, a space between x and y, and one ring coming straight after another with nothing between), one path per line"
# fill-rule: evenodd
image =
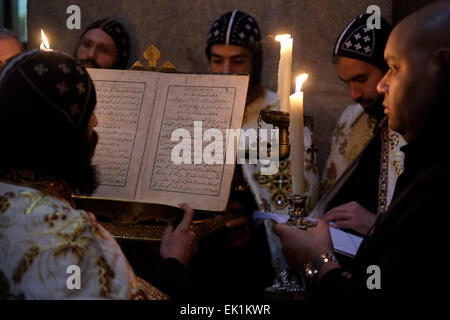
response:
M369 17L353 19L334 45L333 63L355 104L343 111L336 125L322 179L324 196L315 212L325 213L334 227L361 236L389 207L403 171L400 147L405 144L383 121L383 96L376 88L388 70L383 52L392 27L380 17L381 28L371 28Z

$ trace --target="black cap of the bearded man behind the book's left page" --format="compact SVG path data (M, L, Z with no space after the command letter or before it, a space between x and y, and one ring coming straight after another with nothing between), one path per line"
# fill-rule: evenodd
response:
M126 69L130 57L130 36L120 22L111 18L97 20L84 30L81 38L91 29L101 29L113 38L117 46L117 62L115 69Z

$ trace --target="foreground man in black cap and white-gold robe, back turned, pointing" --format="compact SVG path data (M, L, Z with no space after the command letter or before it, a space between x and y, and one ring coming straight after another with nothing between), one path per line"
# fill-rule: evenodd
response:
M0 101L0 300L188 294L186 267L196 250L188 205L162 237L165 294L136 276L92 213L74 207L72 194L97 186L96 91L79 61L39 50L10 58L0 71Z

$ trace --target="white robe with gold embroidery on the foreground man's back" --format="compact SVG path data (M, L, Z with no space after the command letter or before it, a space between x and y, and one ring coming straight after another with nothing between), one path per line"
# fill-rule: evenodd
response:
M68 288L71 265L80 268L80 289ZM136 277L117 242L93 214L73 209L62 197L0 181L0 299L5 298L167 296Z

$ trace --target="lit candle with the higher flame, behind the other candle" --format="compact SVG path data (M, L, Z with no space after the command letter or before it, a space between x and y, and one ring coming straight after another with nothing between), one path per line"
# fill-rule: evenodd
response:
M289 94L291 93L292 78L292 43L290 34L275 37L280 42L280 64L278 66L278 99L280 111L289 112Z

